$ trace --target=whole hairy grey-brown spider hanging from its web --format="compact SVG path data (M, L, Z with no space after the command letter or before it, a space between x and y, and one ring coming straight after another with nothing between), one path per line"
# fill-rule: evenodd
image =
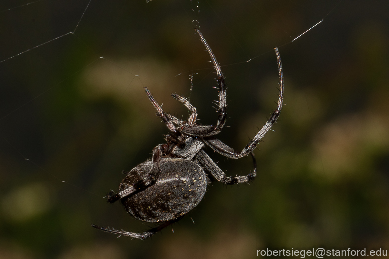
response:
M167 125L170 134L165 136L165 144L153 149L151 159L137 165L130 172L123 171L127 176L120 183L119 191L109 192L107 198L109 203L120 200L127 212L136 219L161 224L144 233L126 232L92 224L93 227L119 236L146 239L177 222L199 204L206 192L208 174L224 184L248 183L255 178L256 162L252 151L276 122L282 108L284 80L278 49L275 48L280 86L277 108L253 140L241 152L237 152L215 137L226 123L226 85L210 46L201 32L197 29L196 32L211 57L218 77L219 108L216 125L197 124L196 108L184 96L177 94L172 94L172 97L191 112L188 120L183 121L165 113L145 87L148 99L157 111L156 115ZM204 151L206 146L232 159L250 154L253 158L254 171L245 176L226 176Z

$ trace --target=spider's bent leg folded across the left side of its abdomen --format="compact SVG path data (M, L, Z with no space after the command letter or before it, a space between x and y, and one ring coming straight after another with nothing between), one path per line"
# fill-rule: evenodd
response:
M108 202L114 203L115 201L127 197L137 191L143 190L148 186L152 185L158 179L160 170L161 170L161 160L162 154L167 151L167 145L162 144L158 145L153 149L152 154L152 164L150 171L146 175L136 175L133 177L137 177L136 181L132 185L126 186L126 188L118 193L110 191L107 195Z

